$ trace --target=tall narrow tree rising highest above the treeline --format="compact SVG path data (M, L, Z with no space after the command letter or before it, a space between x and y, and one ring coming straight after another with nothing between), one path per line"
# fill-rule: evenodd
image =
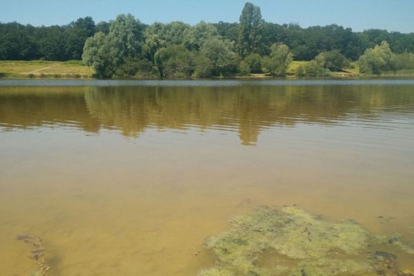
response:
M261 27L264 20L260 7L246 2L239 21L239 54L246 57L252 52L257 52L261 40Z

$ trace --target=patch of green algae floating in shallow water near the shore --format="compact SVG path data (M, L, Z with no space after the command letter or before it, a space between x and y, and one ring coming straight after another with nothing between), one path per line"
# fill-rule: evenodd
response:
M198 276L398 274L397 256L374 249L389 246L388 239L355 221L327 221L296 206L259 206L230 223L230 230L207 239L216 264ZM265 264L266 255L275 257Z

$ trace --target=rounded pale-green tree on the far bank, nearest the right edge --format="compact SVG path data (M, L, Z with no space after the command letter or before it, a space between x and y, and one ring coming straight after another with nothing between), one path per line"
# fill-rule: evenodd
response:
M364 55L359 57L359 72L379 75L392 69L393 59L394 54L389 44L382 41L380 45L367 49Z

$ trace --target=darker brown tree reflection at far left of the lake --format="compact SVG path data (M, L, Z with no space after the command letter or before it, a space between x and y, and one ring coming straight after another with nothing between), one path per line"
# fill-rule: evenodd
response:
M84 91L73 87L0 87L0 126L32 128L45 125L79 126L99 131L99 122L90 117Z

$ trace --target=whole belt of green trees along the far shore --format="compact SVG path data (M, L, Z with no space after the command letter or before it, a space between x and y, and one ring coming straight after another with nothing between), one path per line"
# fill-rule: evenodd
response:
M83 60L96 77L326 76L358 61L365 74L414 69L414 33L266 22L246 3L237 23L141 23L131 14L65 26L0 23L0 60Z

